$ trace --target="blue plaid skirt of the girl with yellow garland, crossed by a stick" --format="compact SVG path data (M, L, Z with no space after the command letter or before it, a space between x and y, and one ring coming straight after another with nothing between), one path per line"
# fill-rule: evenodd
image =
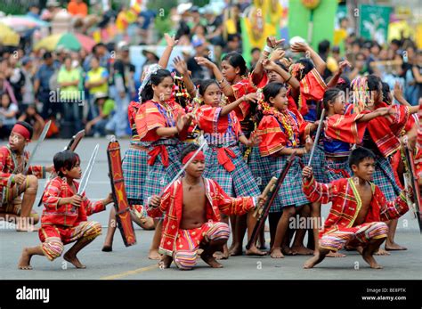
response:
M287 159L288 156L277 158L268 157L268 164L265 166L265 173L269 175L268 180L270 180L272 176L280 176L281 169L285 166ZM288 174L283 183L281 183L277 197L274 199L272 207L270 208L271 213L281 212L283 207L300 207L309 203L309 200L306 199L306 196L302 191L302 167L299 165L300 160L302 159L296 157L288 170Z

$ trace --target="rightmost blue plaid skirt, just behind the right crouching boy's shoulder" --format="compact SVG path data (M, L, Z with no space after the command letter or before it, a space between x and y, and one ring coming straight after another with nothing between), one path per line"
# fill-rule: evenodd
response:
M385 199L388 201L395 199L402 191L395 182L393 167L391 167L390 160L381 156L377 156L372 182L377 184L379 189L384 193Z

